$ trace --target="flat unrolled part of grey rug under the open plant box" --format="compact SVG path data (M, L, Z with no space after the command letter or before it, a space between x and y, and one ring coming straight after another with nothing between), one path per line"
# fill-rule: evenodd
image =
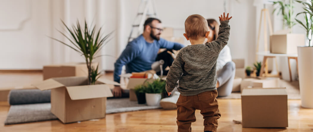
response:
M110 114L128 111L151 110L158 108L161 107L138 104L137 101L130 101L129 98L108 99L106 104L106 113ZM50 110L50 103L12 105L4 124L9 125L58 119L50 112Z

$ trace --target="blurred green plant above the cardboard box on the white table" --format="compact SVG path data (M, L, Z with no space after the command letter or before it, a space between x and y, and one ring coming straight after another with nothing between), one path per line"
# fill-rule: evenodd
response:
M285 26L287 26L290 29L295 25L293 16L293 0L289 0L289 3L286 2L286 0L283 1L273 1L273 5L279 5L279 8L275 8L273 13L278 10L277 15L280 14L283 16L283 29L285 29Z

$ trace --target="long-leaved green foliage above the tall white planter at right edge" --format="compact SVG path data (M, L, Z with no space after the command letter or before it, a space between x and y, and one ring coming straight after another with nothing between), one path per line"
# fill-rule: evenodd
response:
M302 21L295 19L301 26L304 27L305 31L306 31L306 37L309 40L309 46L310 46L310 42L312 40L313 37L313 0L310 0L310 2L302 2L302 1L296 1L301 3L304 7L303 7L303 12L300 12L297 14L304 14L303 16L305 17L305 23L303 23ZM313 45L312 45L313 46Z

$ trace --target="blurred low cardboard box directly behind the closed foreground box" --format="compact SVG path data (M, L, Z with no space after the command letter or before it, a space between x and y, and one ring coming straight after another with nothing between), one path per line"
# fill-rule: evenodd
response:
M280 87L280 78L245 78L240 84L240 91L244 88L253 88L253 87L262 87L262 88L271 88L271 87Z

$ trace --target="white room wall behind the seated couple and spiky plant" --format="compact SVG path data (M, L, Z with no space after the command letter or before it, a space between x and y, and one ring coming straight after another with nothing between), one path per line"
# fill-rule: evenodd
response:
M56 29L64 32L60 19L68 25L93 22L103 27L103 33L115 31L113 39L100 54L118 57L127 44L131 25L141 0L0 0L0 69L41 69L46 64L84 62L72 49L46 37L66 41ZM233 16L229 46L234 59L244 58L252 66L262 6L254 7L253 0L225 0L226 10ZM191 14L215 18L224 12L224 1L219 0L155 0L158 17L164 27L174 28L174 35L182 37L184 21ZM269 12L271 14L271 9ZM295 12L301 8L296 7ZM5 13L4 13L5 12ZM274 31L280 19L271 14ZM263 30L263 29L262 29ZM295 33L303 32L300 26ZM262 46L261 36L260 45ZM67 41L68 42L68 41ZM188 45L188 41L185 41ZM261 49L262 47L260 47ZM260 58L261 59L261 58ZM113 70L114 57L96 59L105 70Z

